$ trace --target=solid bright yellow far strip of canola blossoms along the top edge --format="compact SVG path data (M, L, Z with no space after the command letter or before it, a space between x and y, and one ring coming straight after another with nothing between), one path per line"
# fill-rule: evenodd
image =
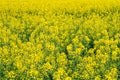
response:
M119 7L119 0L0 0L1 9L84 8L110 9Z

